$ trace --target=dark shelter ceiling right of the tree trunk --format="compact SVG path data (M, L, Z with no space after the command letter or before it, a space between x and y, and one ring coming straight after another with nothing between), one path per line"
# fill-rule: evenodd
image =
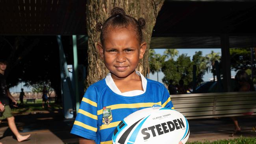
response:
M198 1L165 1L150 48L220 48L222 34L230 35L231 48L256 46L255 0Z

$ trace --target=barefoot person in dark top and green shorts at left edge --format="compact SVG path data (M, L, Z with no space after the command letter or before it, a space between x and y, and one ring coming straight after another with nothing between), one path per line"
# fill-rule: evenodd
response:
M17 104L16 100L11 96L6 85L6 78L4 76L4 71L6 70L7 62L0 60L0 123L1 120L7 119L8 125L11 131L16 136L18 142L24 141L30 137L30 135L22 136L17 130L15 125L15 120L11 114L11 109L9 107L9 98L12 100L15 105ZM1 142L0 142L1 144Z

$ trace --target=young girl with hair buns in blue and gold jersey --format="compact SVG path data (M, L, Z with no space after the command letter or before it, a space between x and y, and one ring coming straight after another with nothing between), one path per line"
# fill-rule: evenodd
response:
M143 26L143 18L137 21L117 7L102 26L97 24L100 42L96 47L109 74L83 96L71 130L80 137L80 144L112 144L115 127L129 114L154 106L173 108L163 84L135 71L147 47Z

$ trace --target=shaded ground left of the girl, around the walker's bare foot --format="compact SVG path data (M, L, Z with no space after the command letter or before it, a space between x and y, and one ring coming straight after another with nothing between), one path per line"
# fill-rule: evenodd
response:
M52 104L42 109L41 103L28 104L14 109L15 122L22 135L31 134L30 140L17 142L6 121L0 125L0 142L4 144L72 144L78 138L70 135L74 120L63 118L62 108Z

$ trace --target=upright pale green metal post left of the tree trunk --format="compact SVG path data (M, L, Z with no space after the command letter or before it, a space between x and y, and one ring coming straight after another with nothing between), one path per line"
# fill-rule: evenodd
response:
M72 39L73 39L73 57L74 57L74 72L75 72L76 113L78 113L80 103L79 103L79 92L78 92L78 58L77 58L76 35L73 35Z

